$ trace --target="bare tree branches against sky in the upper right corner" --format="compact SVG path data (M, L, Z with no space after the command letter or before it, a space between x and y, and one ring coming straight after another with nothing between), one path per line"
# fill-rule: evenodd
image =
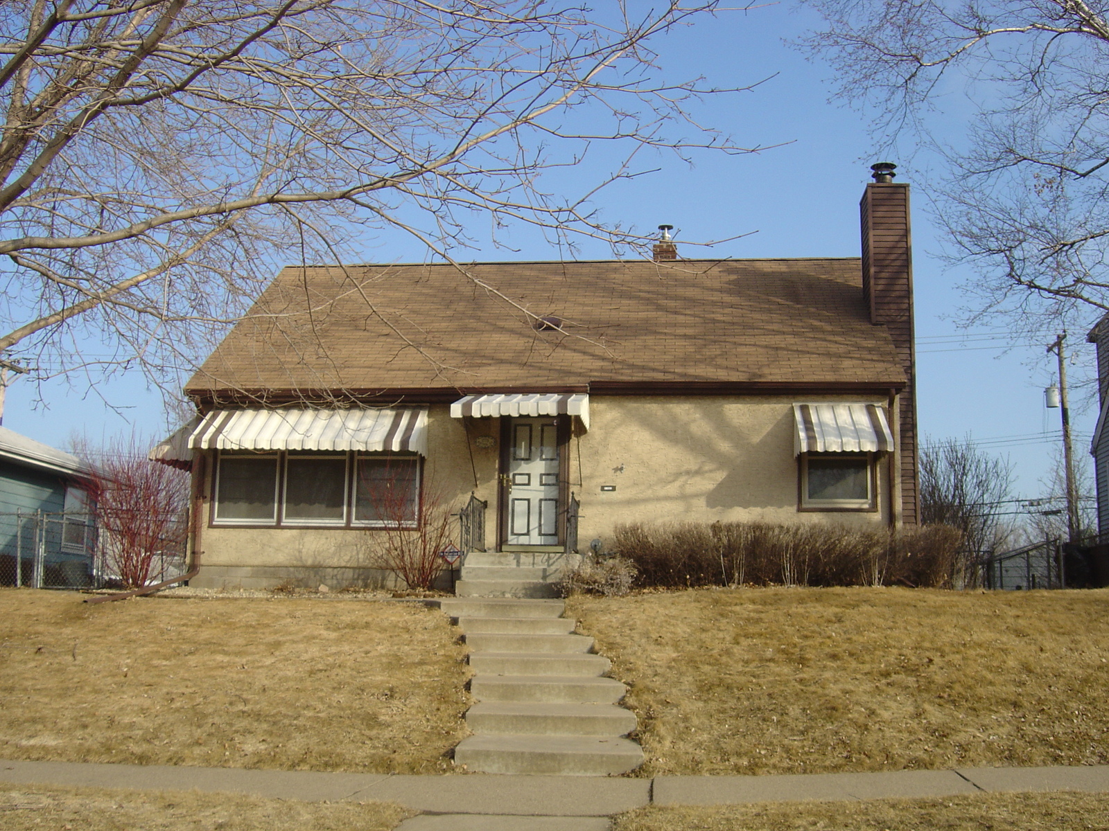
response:
M1109 310L1109 18L1085 0L806 0L804 45L887 148L919 138L973 311L1042 332ZM871 107L877 106L874 111ZM940 117L940 110L944 117ZM936 136L969 112L966 141ZM922 183L925 184L925 183Z

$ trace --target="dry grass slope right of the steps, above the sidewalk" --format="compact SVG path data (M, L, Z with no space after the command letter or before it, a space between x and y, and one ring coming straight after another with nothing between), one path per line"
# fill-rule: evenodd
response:
M640 776L1109 762L1109 592L573 597Z

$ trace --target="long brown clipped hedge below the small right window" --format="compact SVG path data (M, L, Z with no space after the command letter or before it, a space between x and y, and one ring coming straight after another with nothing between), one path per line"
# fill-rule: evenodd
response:
M619 525L641 586L950 586L963 536L946 525L855 530L764 522Z

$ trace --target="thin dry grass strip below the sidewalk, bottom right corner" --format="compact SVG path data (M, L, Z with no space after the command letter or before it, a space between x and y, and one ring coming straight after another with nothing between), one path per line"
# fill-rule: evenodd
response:
M1109 829L1103 793L984 793L865 802L644 808L613 831L1093 831Z

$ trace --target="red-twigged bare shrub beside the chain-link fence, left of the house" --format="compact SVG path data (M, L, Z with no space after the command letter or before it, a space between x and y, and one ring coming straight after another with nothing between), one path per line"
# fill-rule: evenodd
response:
M184 553L189 474L147 460L135 437L83 455L105 564L126 588L144 586L156 557Z

